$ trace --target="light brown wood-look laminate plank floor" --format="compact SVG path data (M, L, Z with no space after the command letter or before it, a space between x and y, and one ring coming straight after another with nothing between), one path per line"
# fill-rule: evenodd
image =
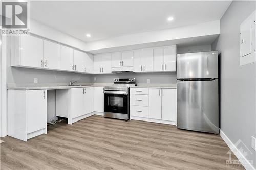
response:
M1 169L244 169L226 166L219 135L96 115L48 126L28 142L1 139Z

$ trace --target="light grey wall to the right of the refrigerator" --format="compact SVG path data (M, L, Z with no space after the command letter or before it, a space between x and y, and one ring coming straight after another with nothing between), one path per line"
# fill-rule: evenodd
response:
M221 18L221 34L212 44L220 57L220 129L232 143L240 139L245 144L239 147L247 152L244 156L253 161L254 168L256 151L251 148L251 136L256 136L256 63L240 66L239 28L255 5L255 1L233 1Z

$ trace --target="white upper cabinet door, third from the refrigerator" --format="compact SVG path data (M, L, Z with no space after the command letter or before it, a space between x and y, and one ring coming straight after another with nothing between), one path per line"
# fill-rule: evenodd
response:
M148 48L143 50L143 71L153 71L153 49Z

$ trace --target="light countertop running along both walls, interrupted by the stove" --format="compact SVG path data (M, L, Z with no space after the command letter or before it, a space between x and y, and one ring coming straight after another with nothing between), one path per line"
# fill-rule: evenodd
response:
M20 83L20 84L8 84L7 89L13 90L61 90L61 89L71 89L71 88L87 88L87 87L105 87L113 85L112 83L95 83L95 84L81 84L80 86L65 86L65 84L33 84L33 83ZM176 89L176 84L158 84L158 83L146 83L138 84L137 86L132 86L131 88L172 88Z

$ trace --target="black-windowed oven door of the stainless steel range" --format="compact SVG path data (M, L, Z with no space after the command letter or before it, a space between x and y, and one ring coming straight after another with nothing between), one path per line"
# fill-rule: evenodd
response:
M104 91L104 112L128 114L128 102L127 91Z

